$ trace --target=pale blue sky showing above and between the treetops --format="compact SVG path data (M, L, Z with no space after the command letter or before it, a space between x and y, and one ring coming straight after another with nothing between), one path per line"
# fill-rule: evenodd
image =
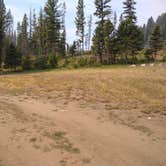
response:
M76 39L75 36L75 13L78 0L59 0L59 2L65 2L67 6L66 13L66 29L67 29L67 41L71 43ZM93 14L95 11L94 0L84 0L86 17ZM112 11L116 11L118 17L122 13L124 0L112 0ZM153 16L157 18L163 12L166 12L166 0L136 0L137 1L137 17L138 25L143 25L147 22L148 18ZM39 11L41 7L44 7L46 0L4 0L7 9L11 9L14 15L15 25L18 21L22 20L24 13L29 13L30 8ZM94 18L95 22L95 18ZM95 23L94 23L95 24Z

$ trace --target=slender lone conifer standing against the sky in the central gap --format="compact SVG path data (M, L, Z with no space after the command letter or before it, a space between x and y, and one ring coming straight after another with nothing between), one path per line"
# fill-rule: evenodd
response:
M84 0L78 0L77 13L75 18L76 35L79 36L79 41L82 45L82 51L84 51L84 37L85 37L85 16L84 16Z

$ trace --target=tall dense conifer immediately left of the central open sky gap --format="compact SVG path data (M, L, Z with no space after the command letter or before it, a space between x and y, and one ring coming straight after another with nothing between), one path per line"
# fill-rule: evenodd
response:
M47 53L59 52L60 12L58 0L48 0L44 10L47 23Z

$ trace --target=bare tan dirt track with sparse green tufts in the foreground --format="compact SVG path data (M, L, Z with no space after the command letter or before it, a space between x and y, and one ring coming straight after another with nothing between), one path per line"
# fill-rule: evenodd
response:
M165 137L104 119L101 111L1 96L0 166L165 165Z

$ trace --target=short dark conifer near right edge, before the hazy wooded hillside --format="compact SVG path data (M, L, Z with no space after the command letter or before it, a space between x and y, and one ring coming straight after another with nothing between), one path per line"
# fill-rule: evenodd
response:
M156 56L157 51L162 48L161 32L160 27L155 26L150 37L150 48Z

